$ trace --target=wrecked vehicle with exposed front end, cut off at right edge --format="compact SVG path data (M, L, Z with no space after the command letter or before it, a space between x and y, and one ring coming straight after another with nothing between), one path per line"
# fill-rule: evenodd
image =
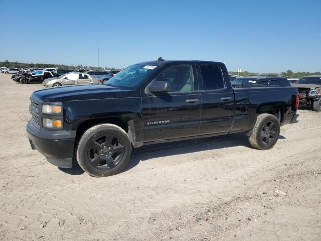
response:
M294 84L300 93L300 104L312 107L314 111L321 111L321 75L303 76Z

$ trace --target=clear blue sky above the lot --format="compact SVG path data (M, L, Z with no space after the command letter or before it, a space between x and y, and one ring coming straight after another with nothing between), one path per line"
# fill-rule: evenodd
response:
M165 59L229 71L321 70L321 0L0 0L0 60L123 68Z

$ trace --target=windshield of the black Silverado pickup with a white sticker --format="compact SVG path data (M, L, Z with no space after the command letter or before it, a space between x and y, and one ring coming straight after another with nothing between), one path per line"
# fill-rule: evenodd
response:
M104 84L126 90L135 89L144 79L151 76L157 68L154 65L134 64L120 71Z

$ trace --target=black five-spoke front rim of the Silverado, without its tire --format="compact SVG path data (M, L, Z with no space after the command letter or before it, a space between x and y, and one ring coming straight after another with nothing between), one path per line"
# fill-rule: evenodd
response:
M125 155L123 143L116 135L101 136L90 144L87 157L90 165L98 170L107 171L115 168Z

